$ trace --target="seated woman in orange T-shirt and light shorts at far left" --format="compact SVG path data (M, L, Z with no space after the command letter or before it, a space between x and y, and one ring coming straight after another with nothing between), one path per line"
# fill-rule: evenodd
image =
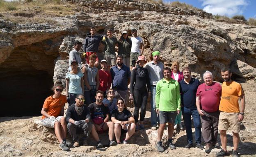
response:
M69 150L66 144L66 118L64 115L64 106L67 102L66 96L62 95L64 86L61 81L57 81L53 86L54 95L46 98L43 103L41 114L41 123L48 128L54 128L55 134L59 140L59 148L64 151Z

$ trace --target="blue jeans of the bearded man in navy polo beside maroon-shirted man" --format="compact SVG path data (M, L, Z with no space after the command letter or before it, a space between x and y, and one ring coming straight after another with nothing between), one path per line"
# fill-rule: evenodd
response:
M201 121L200 115L197 109L189 109L186 107L182 107L183 120L186 126L187 133L187 143L193 143L193 135L192 135L192 127L191 127L191 116L193 117L194 127L195 127L195 140L196 143L201 143Z

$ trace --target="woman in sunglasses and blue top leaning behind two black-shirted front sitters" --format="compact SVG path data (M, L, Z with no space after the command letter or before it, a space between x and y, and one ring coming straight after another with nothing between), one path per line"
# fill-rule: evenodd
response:
M113 111L117 109L117 99L114 98L114 89L110 89L107 92L107 98L104 98L102 103L107 106L112 115Z

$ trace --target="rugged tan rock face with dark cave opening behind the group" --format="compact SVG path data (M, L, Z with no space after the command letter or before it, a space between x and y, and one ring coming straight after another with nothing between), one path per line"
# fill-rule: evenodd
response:
M75 40L84 42L91 26L95 26L100 35L111 28L118 39L122 31L131 35L130 30L135 28L144 40L144 55L148 60L152 51L159 50L160 59L166 66L178 60L180 69L190 66L192 75L200 80L203 72L209 70L214 80L222 82L219 71L224 66L231 67L234 80L243 82L256 77L256 27L220 22L203 11L187 11L133 0L69 2L79 4L76 10L80 12L64 17L45 17L46 23L14 24L0 19L0 81L7 82L1 84L0 92L6 93L0 95L1 100L13 91L17 91L15 97L25 99L29 98L28 95L41 95L43 98L34 103L41 108L43 100L51 94L54 73L54 79L65 81L65 64L68 62L62 60L68 59ZM21 15L23 13L15 14ZM40 13L33 14L33 17L40 16ZM102 52L101 45L100 58L103 57ZM61 69L59 65L62 65ZM12 83L15 86L9 88ZM24 89L30 92L24 92ZM8 115L9 111L5 113ZM35 114L39 113L38 109Z

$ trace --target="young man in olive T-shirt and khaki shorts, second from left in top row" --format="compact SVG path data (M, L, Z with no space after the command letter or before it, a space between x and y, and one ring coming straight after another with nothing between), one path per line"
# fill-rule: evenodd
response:
M102 43L105 45L104 48L104 58L107 61L107 66L110 67L116 64L116 53L115 53L115 46L118 46L117 38L112 36L112 29L107 29L107 38L102 40Z

